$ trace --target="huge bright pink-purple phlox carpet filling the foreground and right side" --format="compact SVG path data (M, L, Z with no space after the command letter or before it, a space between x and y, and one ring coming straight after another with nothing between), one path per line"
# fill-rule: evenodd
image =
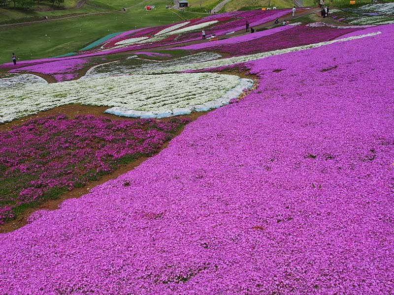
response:
M238 103L0 235L0 290L393 294L393 27L249 62Z

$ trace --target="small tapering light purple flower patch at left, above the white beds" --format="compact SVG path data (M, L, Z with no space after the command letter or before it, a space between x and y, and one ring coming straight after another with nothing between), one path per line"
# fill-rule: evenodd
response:
M43 62L30 66L20 67L10 70L10 73L33 72L53 76L57 82L68 81L78 76L81 70L89 60L87 59L67 59L52 62Z

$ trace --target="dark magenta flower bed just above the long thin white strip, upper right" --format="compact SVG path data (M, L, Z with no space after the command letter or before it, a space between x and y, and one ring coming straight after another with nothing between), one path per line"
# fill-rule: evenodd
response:
M229 53L232 56L242 56L329 41L343 34L357 30L361 29L332 29L327 27L310 28L305 26L297 26L293 29L281 30L275 34L263 36L258 39L247 40L245 42L242 42L241 39L236 44L219 44L218 46L209 47L209 50ZM253 34L244 35L242 37L248 38L250 35ZM196 48L198 48L198 45ZM189 49L192 48L189 47Z

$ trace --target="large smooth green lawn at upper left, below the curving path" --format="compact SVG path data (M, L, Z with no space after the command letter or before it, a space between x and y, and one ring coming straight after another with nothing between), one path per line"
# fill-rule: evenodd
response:
M127 12L0 27L0 64L11 61L12 52L21 60L53 57L75 52L110 33L198 17L190 12L175 14L165 9L166 1L149 3L156 9L146 11L144 2Z

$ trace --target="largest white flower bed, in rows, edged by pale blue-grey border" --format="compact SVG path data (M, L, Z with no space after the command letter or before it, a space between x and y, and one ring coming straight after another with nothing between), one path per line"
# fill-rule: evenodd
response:
M234 75L134 75L24 85L0 92L0 122L69 103L159 112L201 105L238 86ZM176 115L176 114L174 114Z

